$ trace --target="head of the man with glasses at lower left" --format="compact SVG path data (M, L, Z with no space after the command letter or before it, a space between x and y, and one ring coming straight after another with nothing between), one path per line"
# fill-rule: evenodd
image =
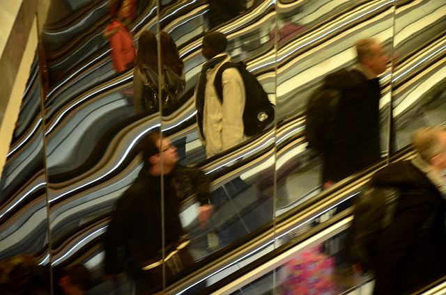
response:
M164 175L171 173L179 160L175 145L165 137L161 140L159 132L150 132L141 138L138 149L142 152L144 166L153 176L161 174L161 165Z

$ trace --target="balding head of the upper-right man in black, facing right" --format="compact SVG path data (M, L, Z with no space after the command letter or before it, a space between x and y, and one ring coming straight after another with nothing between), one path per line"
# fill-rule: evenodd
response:
M387 68L389 57L385 54L380 43L373 38L365 38L356 42L357 60L369 67L378 76Z

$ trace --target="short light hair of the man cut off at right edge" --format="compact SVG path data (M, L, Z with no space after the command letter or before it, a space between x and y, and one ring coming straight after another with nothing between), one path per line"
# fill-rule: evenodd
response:
M438 136L443 132L446 132L445 127L422 127L414 132L413 146L424 160L431 161L433 157L446 150Z

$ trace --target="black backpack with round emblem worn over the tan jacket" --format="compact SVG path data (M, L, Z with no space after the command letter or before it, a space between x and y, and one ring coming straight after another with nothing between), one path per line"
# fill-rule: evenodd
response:
M246 64L243 62L224 63L217 71L214 86L221 101L223 101L222 74L229 67L236 67L245 82L246 103L243 111L245 134L247 136L259 134L274 120L275 106L268 99L268 94L256 77L246 70Z

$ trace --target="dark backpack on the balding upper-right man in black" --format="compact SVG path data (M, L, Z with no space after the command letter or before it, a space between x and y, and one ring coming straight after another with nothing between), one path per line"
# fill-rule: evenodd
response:
M336 137L335 120L339 113L339 100L342 92L338 89L316 88L306 106L305 137L308 148L318 154L328 150Z

